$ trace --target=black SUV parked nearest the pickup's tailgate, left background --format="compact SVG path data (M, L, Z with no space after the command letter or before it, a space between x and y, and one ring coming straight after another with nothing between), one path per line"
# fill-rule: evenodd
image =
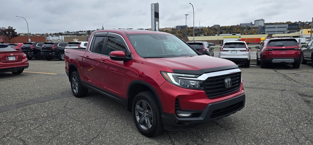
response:
M41 57L46 60L64 60L64 48L67 44L68 42L46 42L41 46Z

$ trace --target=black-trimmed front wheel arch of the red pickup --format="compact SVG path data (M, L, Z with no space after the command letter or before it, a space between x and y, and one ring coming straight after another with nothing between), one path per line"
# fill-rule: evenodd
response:
M135 89L135 88L139 88L139 89ZM153 92L153 94L156 96L156 100L158 101L161 112L163 112L162 103L161 103L160 97L157 94L156 90L152 87L151 84L146 83L146 82L141 81L141 80L134 80L128 85L127 98L126 98L127 110L131 112L132 102L133 102L136 94L138 94L140 92L144 92L144 91L152 91Z

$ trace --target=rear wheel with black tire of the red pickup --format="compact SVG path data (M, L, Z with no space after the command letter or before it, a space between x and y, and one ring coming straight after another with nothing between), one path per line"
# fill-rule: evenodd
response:
M72 93L75 97L77 98L84 97L88 93L88 89L82 86L80 77L77 71L72 72L70 83L71 83ZM75 88L73 89L73 87Z

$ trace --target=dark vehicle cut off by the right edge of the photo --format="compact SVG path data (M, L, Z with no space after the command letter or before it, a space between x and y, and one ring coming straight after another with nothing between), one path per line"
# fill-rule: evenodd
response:
M313 67L313 39L307 44L302 45L301 49L301 64L306 64L306 62L312 62Z

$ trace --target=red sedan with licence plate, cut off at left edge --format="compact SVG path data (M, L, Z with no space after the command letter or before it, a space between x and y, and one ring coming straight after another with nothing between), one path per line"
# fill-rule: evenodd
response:
M26 54L22 51L16 51L12 47L0 44L0 73L12 72L20 74L25 68L28 68Z

